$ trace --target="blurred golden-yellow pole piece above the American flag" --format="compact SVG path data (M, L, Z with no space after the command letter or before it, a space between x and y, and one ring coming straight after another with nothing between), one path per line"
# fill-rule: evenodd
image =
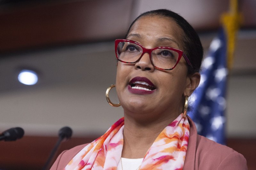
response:
M233 55L236 44L236 33L242 21L242 15L238 12L238 0L229 1L229 12L223 13L220 22L227 35L227 67L229 71L233 66Z

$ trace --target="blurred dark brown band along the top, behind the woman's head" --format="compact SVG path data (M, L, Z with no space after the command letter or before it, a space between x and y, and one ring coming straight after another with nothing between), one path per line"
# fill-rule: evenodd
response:
M166 8L198 32L216 31L223 0L0 0L0 52L122 38L140 13ZM242 29L256 28L256 1L241 0Z

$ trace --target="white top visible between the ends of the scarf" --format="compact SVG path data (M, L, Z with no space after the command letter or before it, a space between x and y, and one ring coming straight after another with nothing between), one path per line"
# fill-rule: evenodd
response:
M121 166L121 159L122 159L123 169ZM121 159L117 164L116 170L137 170L143 160L143 158L139 158L139 159L121 158Z

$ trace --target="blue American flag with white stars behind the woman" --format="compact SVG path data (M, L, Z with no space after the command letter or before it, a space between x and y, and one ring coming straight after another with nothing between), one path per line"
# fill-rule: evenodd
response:
M202 62L201 81L190 97L192 109L188 113L199 135L221 144L225 144L226 50L224 29L220 29Z

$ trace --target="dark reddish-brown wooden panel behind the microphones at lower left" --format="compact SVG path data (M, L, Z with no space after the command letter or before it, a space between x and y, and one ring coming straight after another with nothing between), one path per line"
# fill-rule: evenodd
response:
M96 138L88 136L62 142L54 160L62 151L92 142ZM24 136L17 141L1 141L0 169L42 169L57 140L57 137Z

